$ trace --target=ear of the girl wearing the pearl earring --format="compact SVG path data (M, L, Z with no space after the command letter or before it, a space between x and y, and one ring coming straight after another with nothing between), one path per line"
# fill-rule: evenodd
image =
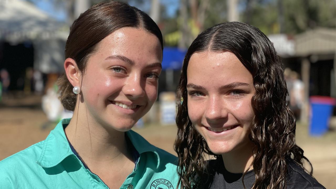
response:
M80 86L81 72L78 69L76 61L72 58L67 58L64 61L64 69L72 86Z

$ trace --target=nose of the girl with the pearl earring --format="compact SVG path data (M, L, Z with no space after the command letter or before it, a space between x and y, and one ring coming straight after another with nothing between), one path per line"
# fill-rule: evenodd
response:
M126 96L129 96L133 99L144 97L145 91L141 86L140 76L137 74L134 74L134 76L130 76L125 82L123 92Z

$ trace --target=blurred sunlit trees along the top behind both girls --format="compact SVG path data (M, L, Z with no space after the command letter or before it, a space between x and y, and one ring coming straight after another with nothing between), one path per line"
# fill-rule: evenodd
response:
M55 9L63 9L67 23L90 6L103 0L27 0L32 3L49 1ZM317 27L336 25L335 0L119 0L147 12L162 30L166 46L185 48L205 28L230 21L234 9L235 21L259 28L266 35L295 35ZM179 4L175 14L167 10ZM231 20L232 21L232 20Z

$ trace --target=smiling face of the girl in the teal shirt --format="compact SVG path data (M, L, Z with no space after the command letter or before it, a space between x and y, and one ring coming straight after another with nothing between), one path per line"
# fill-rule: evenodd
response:
M90 56L82 92L89 121L129 130L157 98L162 48L138 28L121 28L104 38Z

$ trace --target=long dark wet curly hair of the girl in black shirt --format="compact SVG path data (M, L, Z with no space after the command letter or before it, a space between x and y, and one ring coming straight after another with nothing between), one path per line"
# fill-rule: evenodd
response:
M288 91L283 65L269 39L259 29L240 22L222 23L205 30L185 55L177 90L178 134L174 144L179 158L180 188L203 188L202 184L208 179L203 155L215 155L192 126L187 109L188 62L195 52L204 51L230 51L252 74L255 94L251 105L255 117L249 137L254 144L252 166L256 180L253 189L286 188L286 159L291 158L302 167L302 160L306 158L295 144L296 123L286 104Z

